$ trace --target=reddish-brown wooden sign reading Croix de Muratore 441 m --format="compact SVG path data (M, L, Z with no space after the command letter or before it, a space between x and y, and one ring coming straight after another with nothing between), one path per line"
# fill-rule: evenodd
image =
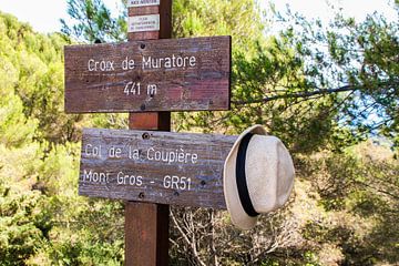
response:
M65 111L228 110L231 37L68 45Z

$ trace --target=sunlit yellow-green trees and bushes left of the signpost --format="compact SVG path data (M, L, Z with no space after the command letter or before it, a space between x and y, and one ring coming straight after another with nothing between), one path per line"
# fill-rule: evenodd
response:
M75 141L92 123L63 112L68 38L3 13L0 34L0 264L120 265L121 203L78 196Z

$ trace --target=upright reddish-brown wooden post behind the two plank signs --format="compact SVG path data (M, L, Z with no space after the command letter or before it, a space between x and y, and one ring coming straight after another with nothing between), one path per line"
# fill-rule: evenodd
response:
M160 30L129 32L130 41L171 38L172 0L161 0L160 6L129 8L130 18L149 14L160 14ZM129 127L132 130L170 131L171 113L130 113ZM168 205L126 202L126 266L163 266L168 264Z

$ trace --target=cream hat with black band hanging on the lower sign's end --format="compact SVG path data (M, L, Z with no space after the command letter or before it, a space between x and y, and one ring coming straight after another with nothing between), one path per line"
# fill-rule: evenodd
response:
M283 142L262 125L244 131L227 155L224 195L234 225L255 226L258 214L282 207L294 185L293 160Z

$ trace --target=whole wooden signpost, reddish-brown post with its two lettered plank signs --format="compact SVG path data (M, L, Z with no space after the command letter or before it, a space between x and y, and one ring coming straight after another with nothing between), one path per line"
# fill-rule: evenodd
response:
M65 111L130 112L130 131L83 131L79 193L125 200L125 265L161 266L170 204L225 208L236 137L167 131L171 111L229 109L232 41L168 39L172 0L127 7L127 42L65 47Z

